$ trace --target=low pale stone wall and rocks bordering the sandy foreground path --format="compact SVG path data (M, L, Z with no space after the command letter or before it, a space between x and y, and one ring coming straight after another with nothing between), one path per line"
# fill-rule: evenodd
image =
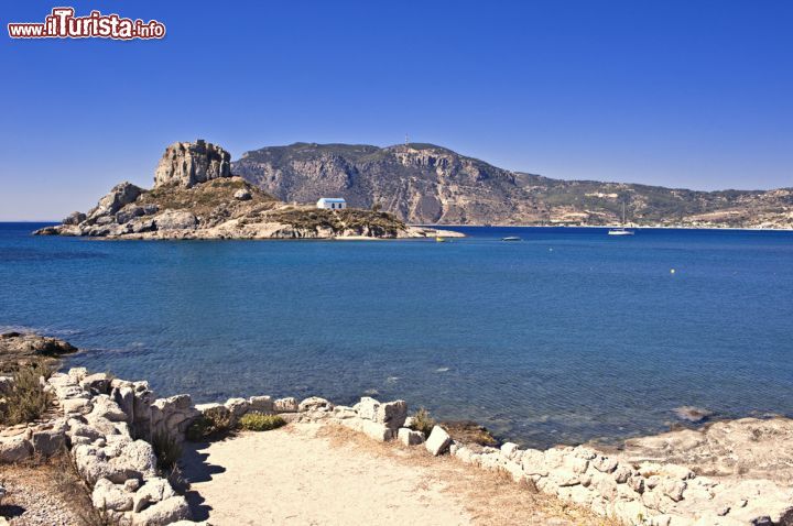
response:
M180 524L191 508L157 469L163 441L194 438L196 423L233 428L247 415L284 423L343 426L380 442L421 447L622 524L793 525L793 420L716 423L697 430L633 439L606 451L588 446L547 450L466 443L443 425L425 435L404 401L362 397L354 406L268 395L194 404L189 395L156 398L145 381L72 369L45 382L57 413L0 431L0 463L46 457L62 448L91 487L94 505L116 524ZM6 380L4 388L13 388ZM192 436L193 435L193 436ZM254 481L253 481L254 482ZM184 523L183 523L184 524Z

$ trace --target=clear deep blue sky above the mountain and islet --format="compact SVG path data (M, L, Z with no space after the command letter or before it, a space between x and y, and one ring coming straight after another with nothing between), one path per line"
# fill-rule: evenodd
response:
M12 41L74 6L163 41ZM0 220L59 219L164 147L441 144L511 169L793 186L793 2L4 1Z

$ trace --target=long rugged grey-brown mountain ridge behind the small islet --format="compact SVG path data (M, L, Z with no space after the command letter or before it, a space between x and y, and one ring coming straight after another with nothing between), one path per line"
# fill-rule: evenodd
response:
M793 189L694 191L510 172L432 144L296 143L248 152L235 174L285 201L344 197L412 223L793 228Z

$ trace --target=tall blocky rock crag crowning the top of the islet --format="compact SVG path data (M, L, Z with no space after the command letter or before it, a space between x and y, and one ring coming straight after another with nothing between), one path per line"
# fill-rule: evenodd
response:
M191 188L198 183L231 176L231 155L203 140L176 142L165 149L154 173L154 188L182 186Z

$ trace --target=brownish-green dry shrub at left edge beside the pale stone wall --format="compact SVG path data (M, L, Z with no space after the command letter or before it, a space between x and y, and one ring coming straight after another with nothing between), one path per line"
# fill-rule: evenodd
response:
M52 405L52 395L44 391L39 379L48 377L51 368L44 361L33 361L14 372L11 392L0 404L0 424L13 426L35 420Z

